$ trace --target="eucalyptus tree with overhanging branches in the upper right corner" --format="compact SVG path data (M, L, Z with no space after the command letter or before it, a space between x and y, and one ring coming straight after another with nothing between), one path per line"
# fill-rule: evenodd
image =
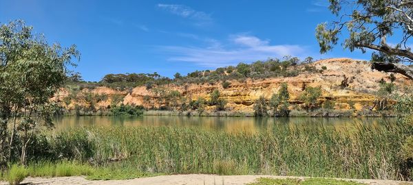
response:
M412 62L410 38L413 34L412 0L329 0L336 21L317 25L316 37L320 52L326 53L337 45L340 34L346 34L343 47L354 51L372 49L381 59L372 69L401 73L413 79L413 68L403 64ZM390 40L390 41L388 41ZM397 60L394 60L397 58Z

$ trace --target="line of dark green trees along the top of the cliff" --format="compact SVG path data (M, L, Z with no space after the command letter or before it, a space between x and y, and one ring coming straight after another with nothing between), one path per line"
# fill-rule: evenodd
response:
M280 59L268 58L268 60L252 62L246 64L240 62L236 66L225 66L215 69L215 71L193 71L186 76L176 73L173 79L162 77L158 73L126 73L107 74L100 82L84 82L80 73L70 75L67 82L78 84L81 88L94 88L95 86L109 86L111 88L134 88L136 86L146 86L147 89L153 86L165 84L220 84L223 88L231 86L230 80L244 81L247 78L264 79L268 77L292 77L302 72L321 73L326 69L315 69L315 66L308 64L313 62L313 58L308 57L299 60L297 57L285 56Z

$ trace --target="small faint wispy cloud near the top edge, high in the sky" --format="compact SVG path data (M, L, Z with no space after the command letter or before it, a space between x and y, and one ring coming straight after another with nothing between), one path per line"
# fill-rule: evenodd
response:
M171 14L181 16L182 18L189 18L192 21L195 21L195 25L198 26L211 25L213 23L213 19L210 14L193 10L186 5L158 4L158 8L170 12Z

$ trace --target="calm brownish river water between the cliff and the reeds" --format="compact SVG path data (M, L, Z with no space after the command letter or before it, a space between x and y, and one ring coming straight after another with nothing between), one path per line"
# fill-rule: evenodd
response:
M195 127L205 130L224 130L226 132L260 132L269 130L277 124L292 127L311 127L324 125L336 129L356 127L358 123L380 126L393 123L392 118L250 118L250 117L198 117L198 116L63 116L56 117L57 130L67 127L87 125L125 127L171 126Z

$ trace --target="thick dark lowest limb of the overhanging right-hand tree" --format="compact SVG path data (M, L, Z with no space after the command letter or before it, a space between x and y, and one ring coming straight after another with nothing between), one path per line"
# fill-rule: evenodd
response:
M400 73L401 75L413 80L413 68L406 66L405 64L373 62L372 69L384 71L386 73Z

